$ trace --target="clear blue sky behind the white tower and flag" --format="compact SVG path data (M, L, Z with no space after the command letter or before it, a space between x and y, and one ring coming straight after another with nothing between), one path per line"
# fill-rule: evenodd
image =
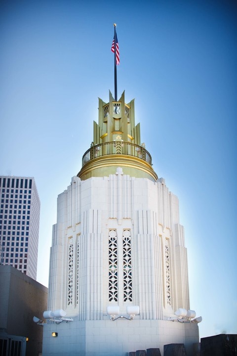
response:
M237 333L237 3L0 1L0 175L33 176L38 281L57 195L81 168L98 96L135 98L158 177L179 197L200 337Z

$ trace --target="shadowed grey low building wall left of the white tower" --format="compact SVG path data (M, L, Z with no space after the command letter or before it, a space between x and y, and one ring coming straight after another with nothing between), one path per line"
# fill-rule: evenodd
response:
M26 355L42 350L43 327L33 322L47 309L47 288L12 266L0 266L0 332L28 337Z

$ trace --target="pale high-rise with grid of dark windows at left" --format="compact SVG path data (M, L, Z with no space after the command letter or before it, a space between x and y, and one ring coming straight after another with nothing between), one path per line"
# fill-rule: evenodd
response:
M1 264L37 277L40 198L32 177L0 176Z

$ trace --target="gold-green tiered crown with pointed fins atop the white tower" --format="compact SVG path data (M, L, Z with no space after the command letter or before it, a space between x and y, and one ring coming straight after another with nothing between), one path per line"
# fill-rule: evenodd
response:
M117 100L111 92L109 102L99 99L98 124L94 121L93 142L82 157L78 177L108 177L118 167L132 177L158 179L152 157L141 144L140 124L135 125L134 100L126 104L124 91Z

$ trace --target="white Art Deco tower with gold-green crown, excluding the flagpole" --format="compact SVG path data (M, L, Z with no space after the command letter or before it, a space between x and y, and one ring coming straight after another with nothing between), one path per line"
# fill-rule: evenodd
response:
M184 343L192 355L198 319L178 322L174 314L189 304L178 198L140 142L134 101L110 93L109 103L99 99L79 174L58 196L43 356L125 356L148 348L163 355L170 343Z

